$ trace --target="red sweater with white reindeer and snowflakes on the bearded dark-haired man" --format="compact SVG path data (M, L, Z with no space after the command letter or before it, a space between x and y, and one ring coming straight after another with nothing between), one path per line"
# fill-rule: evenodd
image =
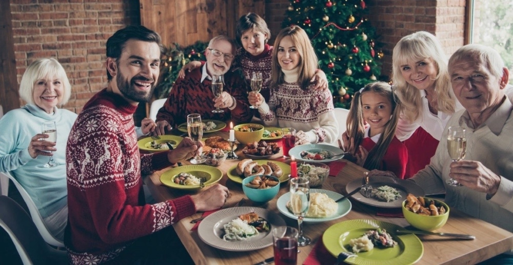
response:
M73 264L115 259L137 238L195 212L190 196L146 205L141 172L169 166L167 152L141 158L136 106L106 89L78 115L68 138L68 225L64 243Z

